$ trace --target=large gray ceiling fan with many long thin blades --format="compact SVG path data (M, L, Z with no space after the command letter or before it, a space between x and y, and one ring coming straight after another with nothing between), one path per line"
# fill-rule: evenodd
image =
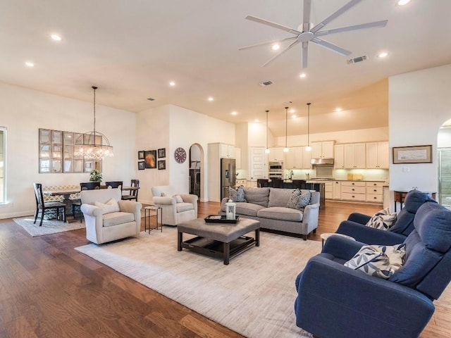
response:
M335 28L333 30L321 30L324 26L328 25L331 21L338 18L342 13L345 13L346 11L350 10L350 8L354 7L355 5L359 4L359 2L362 0L351 0L345 6L342 6L338 11L328 16L328 18L321 21L321 23L315 25L310 29L310 12L311 12L311 0L304 0L304 15L302 18L302 24L297 27L297 29L290 28L284 25L279 25L278 23L273 23L271 21L257 18L253 15L247 15L247 20L255 21L256 23L262 23L264 25L268 25L274 28L278 28L279 30L284 30L285 32L289 32L294 37L286 37L285 39L278 39L278 40L272 40L268 42L261 42L259 44L252 44L249 46L243 46L240 47L239 50L243 49L249 49L257 46L264 46L266 44L276 44L280 42L292 42L290 45L286 46L284 49L281 49L276 55L274 55L272 58L270 58L266 63L261 65L261 67L265 67L272 61L274 61L276 58L284 54L286 51L291 49L296 44L302 43L302 68L307 68L307 49L309 46L309 42L314 42L315 44L318 44L319 46L322 46L326 49L330 49L330 51L335 51L338 54L341 54L343 56L348 56L352 52L347 51L346 49L341 48L340 46L337 46L335 44L331 44L330 42L326 42L323 39L320 39L320 37L323 37L325 35L331 35L331 34L337 34L341 32L349 32L352 30L365 30L368 28L374 28L374 27L385 27L387 25L388 20L382 20L382 21L375 21L373 23L362 23L361 25L352 25L347 27L340 27ZM294 41L293 41L294 40Z

